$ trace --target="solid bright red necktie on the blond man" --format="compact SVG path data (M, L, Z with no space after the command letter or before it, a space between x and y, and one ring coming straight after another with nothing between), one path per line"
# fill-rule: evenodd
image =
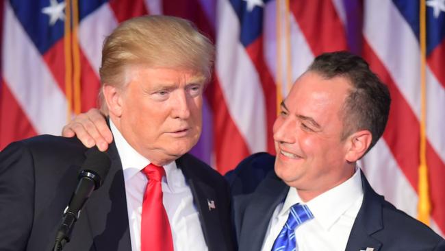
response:
M142 221L140 228L141 251L173 251L173 238L168 224L167 213L162 204L162 177L164 168L147 165L142 169L149 179L142 202Z

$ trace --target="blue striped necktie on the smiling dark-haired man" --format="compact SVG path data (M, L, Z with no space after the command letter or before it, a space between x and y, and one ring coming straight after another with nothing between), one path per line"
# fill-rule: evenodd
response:
M290 208L288 221L281 229L272 246L272 251L294 251L296 249L295 228L308 219L313 219L311 211L306 205L294 204Z

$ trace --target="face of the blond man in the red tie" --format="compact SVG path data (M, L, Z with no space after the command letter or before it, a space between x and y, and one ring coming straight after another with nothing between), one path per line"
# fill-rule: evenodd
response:
M186 154L201 135L204 78L179 69L129 67L118 129L157 165ZM117 125L116 125L117 126Z

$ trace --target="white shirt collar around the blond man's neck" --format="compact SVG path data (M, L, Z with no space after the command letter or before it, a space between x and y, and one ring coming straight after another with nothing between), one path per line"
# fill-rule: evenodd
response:
M147 167L151 161L131 147L111 119L110 129L113 134L114 143L116 144L116 148L118 150L120 163L122 163L124 180L127 182L133 178L133 176L142 171L144 167ZM166 182L171 190L174 190L174 187L183 187L186 184L183 175L179 174L181 171L177 168L176 161L172 161L163 167L166 177L162 178L162 181Z

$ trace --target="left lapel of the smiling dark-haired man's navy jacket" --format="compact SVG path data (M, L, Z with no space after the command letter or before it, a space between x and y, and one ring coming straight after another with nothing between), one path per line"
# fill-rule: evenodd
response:
M261 250L270 218L288 190L289 187L274 172L259 184L244 212L239 250Z

